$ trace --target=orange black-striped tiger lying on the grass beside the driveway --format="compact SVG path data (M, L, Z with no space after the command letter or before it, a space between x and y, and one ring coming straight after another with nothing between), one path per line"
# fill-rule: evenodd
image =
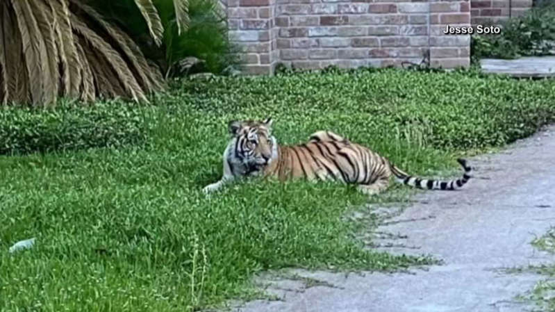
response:
M229 122L231 140L223 155L222 178L204 187L204 193L249 176L273 177L279 181L299 178L340 181L356 184L367 195L386 190L391 176L398 183L428 190L458 190L472 177L472 167L463 158L457 159L464 170L462 178L440 181L412 176L375 151L331 131L317 131L309 136L308 142L299 145L281 146L272 136L272 123L271 117L263 121Z

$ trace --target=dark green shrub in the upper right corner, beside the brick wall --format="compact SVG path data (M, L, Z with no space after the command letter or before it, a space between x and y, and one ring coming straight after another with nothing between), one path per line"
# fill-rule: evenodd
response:
M554 54L555 6L545 3L522 17L502 23L499 35L472 36L472 56L476 58L519 58Z

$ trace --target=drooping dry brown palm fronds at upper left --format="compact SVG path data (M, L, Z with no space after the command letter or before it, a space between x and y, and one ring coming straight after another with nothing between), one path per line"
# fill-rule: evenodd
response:
M163 88L160 69L131 36L85 0L0 0L0 104L52 104L57 97L146 101ZM154 44L164 27L151 0L133 0ZM179 32L187 0L172 0Z

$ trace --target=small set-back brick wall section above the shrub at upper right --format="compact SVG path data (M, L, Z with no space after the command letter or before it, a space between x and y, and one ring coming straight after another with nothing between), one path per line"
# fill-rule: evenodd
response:
M470 0L472 25L496 24L520 16L532 7L532 0Z

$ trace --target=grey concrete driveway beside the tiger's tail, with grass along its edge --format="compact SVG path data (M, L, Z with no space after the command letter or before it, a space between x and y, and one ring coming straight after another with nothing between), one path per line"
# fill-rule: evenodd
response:
M545 277L506 268L554 263L530 245L555 225L555 126L500 154L470 159L476 178L458 192L422 192L417 202L378 230L400 234L382 240L389 252L432 254L443 265L394 274L299 275L301 281L267 281L279 301L248 302L242 312L530 311L515 300ZM391 222L399 221L399 222Z

